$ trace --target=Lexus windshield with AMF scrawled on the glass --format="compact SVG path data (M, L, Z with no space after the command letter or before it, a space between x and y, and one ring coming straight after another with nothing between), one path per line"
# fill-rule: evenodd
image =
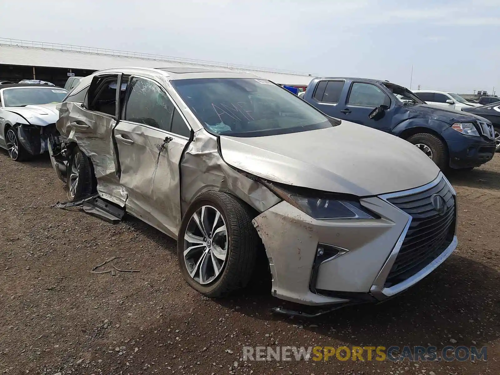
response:
M297 95L265 79L193 78L171 83L212 134L251 137L333 126Z

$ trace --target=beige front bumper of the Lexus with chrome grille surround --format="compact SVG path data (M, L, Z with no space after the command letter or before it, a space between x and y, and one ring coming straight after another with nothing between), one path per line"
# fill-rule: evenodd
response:
M456 205L452 240L446 248L410 277L388 283L412 220L411 215L389 199L418 193L438 183L449 186L454 201L454 190L442 173L416 189L361 199L361 204L377 213L379 219L315 220L285 201L255 217L253 224L265 246L271 269L272 295L308 305L376 301L421 280L456 247ZM321 244L342 251L317 266Z

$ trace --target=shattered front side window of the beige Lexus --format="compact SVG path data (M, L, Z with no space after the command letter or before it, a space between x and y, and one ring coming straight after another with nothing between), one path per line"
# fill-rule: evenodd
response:
M170 131L173 103L154 82L132 78L124 119Z

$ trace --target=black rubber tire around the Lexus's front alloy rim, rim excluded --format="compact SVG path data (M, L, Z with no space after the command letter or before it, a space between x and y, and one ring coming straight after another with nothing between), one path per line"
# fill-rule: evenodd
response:
M189 275L184 260L184 236L191 216L204 205L216 208L227 229L227 254L218 276L208 284L201 284ZM179 229L177 258L180 272L186 282L208 297L221 297L245 287L252 276L259 245L257 231L251 220L252 209L236 197L219 192L201 193L187 209ZM202 247L206 249L206 247Z

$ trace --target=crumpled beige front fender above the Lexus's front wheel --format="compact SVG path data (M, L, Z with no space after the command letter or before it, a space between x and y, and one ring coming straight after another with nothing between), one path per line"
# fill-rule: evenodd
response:
M267 187L237 172L218 152L217 138L205 130L194 134L180 162L180 202L182 214L203 191L231 192L262 212L281 199Z

